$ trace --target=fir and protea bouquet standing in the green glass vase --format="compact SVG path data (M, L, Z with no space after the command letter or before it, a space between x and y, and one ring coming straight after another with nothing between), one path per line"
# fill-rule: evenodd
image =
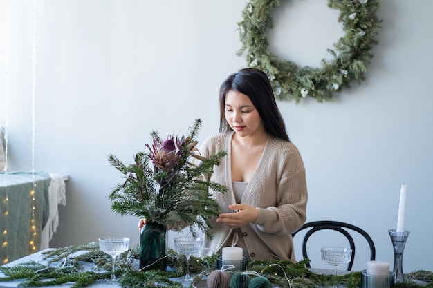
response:
M111 208L120 215L147 218L170 229L190 225L212 237L210 220L219 215L219 204L209 189L224 193L227 187L209 181L214 166L219 165L225 151L208 158L196 151L196 136L201 127L196 119L187 137L167 137L163 141L157 131L151 131L149 152L138 152L134 162L123 164L109 155L109 163L125 177L109 194ZM194 162L192 161L194 159Z

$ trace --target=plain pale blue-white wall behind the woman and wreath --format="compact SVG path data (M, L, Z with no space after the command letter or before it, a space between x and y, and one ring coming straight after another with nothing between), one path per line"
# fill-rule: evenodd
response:
M216 133L219 85L245 66L236 52L247 2L39 0L34 34L33 1L0 0L8 166L33 169L35 100L34 169L69 175L53 247L113 234L138 244L138 220L113 213L107 200L121 181L107 155L129 163L152 129L184 134L195 118L203 119L199 140ZM405 272L433 270L426 249L433 238L432 8L430 0L381 1L383 29L365 82L333 102L279 102L304 157L308 221L364 228L377 258L392 265L387 230L396 228L400 185L407 184ZM322 1L284 1L273 14L270 50L300 66L317 66L342 35L338 12ZM365 269L364 260L354 269Z

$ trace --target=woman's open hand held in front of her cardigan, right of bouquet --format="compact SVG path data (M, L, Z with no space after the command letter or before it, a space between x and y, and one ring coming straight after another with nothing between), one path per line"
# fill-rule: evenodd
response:
M228 205L231 210L237 210L234 213L219 214L216 222L223 223L230 228L238 228L243 225L250 224L259 217L259 210L247 204Z

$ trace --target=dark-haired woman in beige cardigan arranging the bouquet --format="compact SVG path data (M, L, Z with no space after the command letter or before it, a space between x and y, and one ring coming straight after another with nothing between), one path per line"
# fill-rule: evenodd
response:
M219 133L199 151L204 157L228 153L211 178L228 192L213 193L221 214L203 247L219 253L238 246L248 259L295 262L291 234L306 220L305 169L268 77L255 68L239 70L221 85L219 102Z

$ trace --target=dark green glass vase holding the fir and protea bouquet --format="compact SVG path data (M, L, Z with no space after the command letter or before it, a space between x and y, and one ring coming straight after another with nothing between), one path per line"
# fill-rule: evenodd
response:
M140 271L167 270L167 229L149 222L140 234Z

